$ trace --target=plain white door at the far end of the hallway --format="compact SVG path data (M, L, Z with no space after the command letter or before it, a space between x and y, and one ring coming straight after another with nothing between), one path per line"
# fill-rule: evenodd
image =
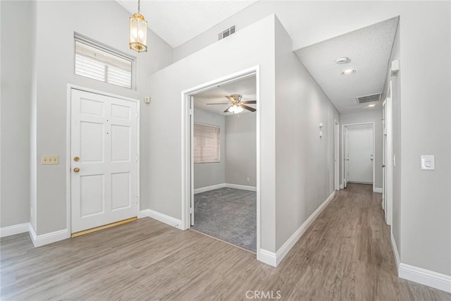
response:
M348 181L373 183L373 130L348 130Z

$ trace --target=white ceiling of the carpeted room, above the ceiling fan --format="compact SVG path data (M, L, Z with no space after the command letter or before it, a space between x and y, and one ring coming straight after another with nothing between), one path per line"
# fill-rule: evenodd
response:
M249 78L242 78L234 82L229 82L225 85L220 85L218 87L214 87L211 90L194 95L194 109L200 109L222 116L230 116L233 115L233 113L224 113L224 110L226 110L230 106L230 104L228 104L229 101L225 96L230 94L242 94L242 102L246 100L256 100L256 89L257 82L255 76L250 76ZM217 104L224 102L226 102L227 104ZM252 108L257 109L256 104L247 104L247 106L251 106ZM242 113L252 112L243 110Z

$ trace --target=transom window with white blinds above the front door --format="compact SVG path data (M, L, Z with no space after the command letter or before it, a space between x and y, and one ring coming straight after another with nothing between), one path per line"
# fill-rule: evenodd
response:
M132 89L134 58L75 35L75 74Z

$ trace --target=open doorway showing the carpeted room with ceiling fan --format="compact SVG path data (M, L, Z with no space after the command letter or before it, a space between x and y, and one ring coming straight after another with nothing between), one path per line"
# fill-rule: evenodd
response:
M182 92L184 228L259 252L259 69Z

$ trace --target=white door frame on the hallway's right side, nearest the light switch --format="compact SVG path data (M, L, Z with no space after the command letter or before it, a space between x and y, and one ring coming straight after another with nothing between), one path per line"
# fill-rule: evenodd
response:
M384 202L385 202L385 223L392 224L393 219L393 97L392 82L388 85L387 98L385 99L385 133L386 142L385 151L385 175ZM383 137L385 138L385 137Z

